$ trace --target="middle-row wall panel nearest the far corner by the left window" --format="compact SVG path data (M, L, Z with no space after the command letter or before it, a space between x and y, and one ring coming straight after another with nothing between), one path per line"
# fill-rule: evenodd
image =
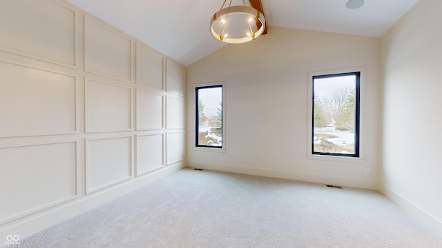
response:
M185 101L173 96L166 96L166 127L167 129L184 128Z

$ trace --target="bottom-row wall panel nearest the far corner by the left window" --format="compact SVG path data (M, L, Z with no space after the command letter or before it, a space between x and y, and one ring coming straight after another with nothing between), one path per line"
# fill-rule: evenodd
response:
M169 132L166 134L167 165L186 158L185 132Z

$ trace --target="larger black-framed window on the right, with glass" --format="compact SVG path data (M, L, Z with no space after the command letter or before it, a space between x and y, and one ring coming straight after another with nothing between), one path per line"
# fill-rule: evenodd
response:
M311 154L359 157L361 72L312 78Z

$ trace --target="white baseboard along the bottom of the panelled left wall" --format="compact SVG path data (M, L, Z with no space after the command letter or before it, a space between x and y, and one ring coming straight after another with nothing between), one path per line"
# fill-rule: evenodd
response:
M164 178L184 167L185 165L182 162L175 163L174 165L158 169L144 176L134 178L133 180L128 180L126 183L103 189L94 194L81 196L68 203L51 207L50 209L45 209L35 214L30 214L29 216L24 216L23 218L13 220L10 223L5 223L0 226L0 247L7 245L7 236L19 236L21 239L30 236L51 227L52 225L56 225L64 220L82 214L85 211L94 209L95 207L118 198L119 196L133 192L140 187L153 183L155 180Z

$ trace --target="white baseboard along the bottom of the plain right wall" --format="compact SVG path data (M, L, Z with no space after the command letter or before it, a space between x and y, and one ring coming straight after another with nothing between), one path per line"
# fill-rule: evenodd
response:
M412 216L414 216L419 222L424 226L430 229L434 232L436 236L439 236L442 238L442 221L438 218L432 216L430 213L425 211L424 209L421 209L421 207L415 205L412 203L412 201L408 200L404 196L401 196L401 194L398 194L398 192L395 192L390 187L387 187L385 185L381 185L379 187L379 191L387 196L390 200L392 200L394 203L399 205L399 207L405 209L408 213L410 213Z

